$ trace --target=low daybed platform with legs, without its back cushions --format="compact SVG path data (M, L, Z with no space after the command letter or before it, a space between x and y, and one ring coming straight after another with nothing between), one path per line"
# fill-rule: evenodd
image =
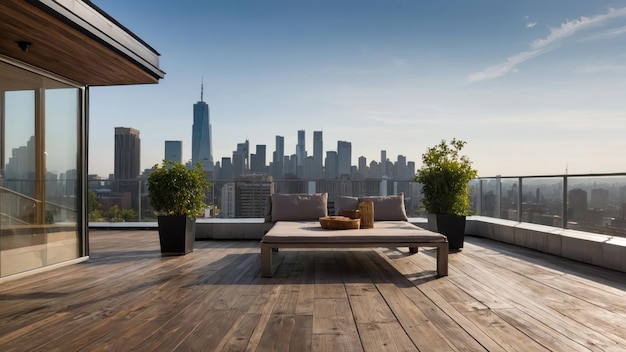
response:
M448 240L446 236L424 230L407 221L380 221L372 229L327 230L317 221L278 221L261 240L261 275L271 277L278 248L437 248L437 275L448 275Z

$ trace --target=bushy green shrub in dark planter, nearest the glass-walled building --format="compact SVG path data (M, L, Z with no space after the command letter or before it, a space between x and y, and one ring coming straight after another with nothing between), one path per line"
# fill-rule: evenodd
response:
M179 162L163 160L148 176L148 195L158 216L162 255L182 255L193 251L196 217L207 205L211 184L198 163L188 169Z

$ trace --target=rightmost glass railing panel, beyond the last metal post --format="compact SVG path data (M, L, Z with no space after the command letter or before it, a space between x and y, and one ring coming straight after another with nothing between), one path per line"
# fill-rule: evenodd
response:
M567 228L626 236L626 176L568 177Z

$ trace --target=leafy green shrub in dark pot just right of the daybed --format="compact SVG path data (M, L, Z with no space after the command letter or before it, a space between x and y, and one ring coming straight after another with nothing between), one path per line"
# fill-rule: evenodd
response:
M422 155L415 181L422 184L429 227L448 237L451 249L463 247L465 217L469 215L469 181L478 175L461 149L466 142L442 140Z

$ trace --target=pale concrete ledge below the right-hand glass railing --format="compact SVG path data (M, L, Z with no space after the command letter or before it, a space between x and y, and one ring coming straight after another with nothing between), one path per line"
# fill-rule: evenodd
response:
M626 272L626 238L484 216L467 218L465 234Z

